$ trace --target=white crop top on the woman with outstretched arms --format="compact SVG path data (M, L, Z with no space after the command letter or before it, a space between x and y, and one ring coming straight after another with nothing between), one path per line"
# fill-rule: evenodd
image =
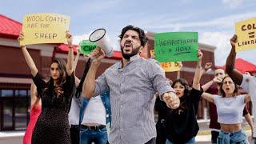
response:
M214 103L217 107L219 123L242 123L242 111L246 105L244 94L230 98L222 98L222 96L214 95Z

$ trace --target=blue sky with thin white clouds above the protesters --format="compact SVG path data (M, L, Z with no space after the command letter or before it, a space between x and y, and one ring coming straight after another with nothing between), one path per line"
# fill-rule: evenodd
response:
M196 31L199 42L216 46L215 65L222 66L230 53L234 23L256 18L256 0L1 0L0 14L22 22L25 14L56 13L70 16L74 43L105 28L115 50L123 27L134 25L153 33ZM15 3L15 4L14 4ZM238 52L256 64L256 50Z

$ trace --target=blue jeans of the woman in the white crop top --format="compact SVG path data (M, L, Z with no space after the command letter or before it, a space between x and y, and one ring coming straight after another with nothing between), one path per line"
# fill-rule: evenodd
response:
M221 130L217 139L218 144L226 144L226 143L249 143L247 135L243 130L238 130L234 132L226 132Z

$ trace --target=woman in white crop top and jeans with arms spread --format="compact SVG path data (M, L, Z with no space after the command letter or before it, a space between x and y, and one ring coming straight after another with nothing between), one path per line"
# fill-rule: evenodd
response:
M241 123L242 110L246 102L250 102L250 95L238 95L238 86L229 76L223 78L220 87L220 95L202 94L202 98L217 107L218 122L221 125L217 143L248 143Z

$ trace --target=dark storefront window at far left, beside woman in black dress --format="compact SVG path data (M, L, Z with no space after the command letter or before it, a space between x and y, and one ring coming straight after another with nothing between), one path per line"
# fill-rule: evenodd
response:
M0 90L1 130L26 130L30 90ZM0 107L1 108L1 107Z

